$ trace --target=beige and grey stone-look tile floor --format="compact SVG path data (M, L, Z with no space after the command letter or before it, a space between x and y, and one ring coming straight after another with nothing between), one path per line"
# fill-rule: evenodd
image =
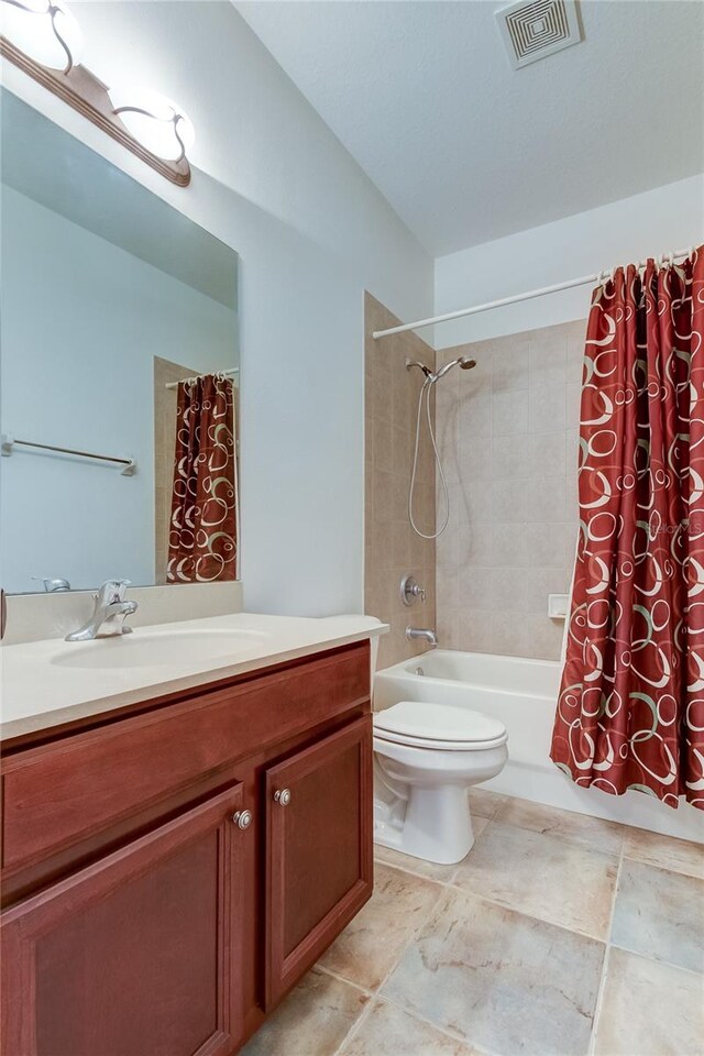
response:
M472 793L459 866L373 899L245 1056L704 1056L704 849Z

